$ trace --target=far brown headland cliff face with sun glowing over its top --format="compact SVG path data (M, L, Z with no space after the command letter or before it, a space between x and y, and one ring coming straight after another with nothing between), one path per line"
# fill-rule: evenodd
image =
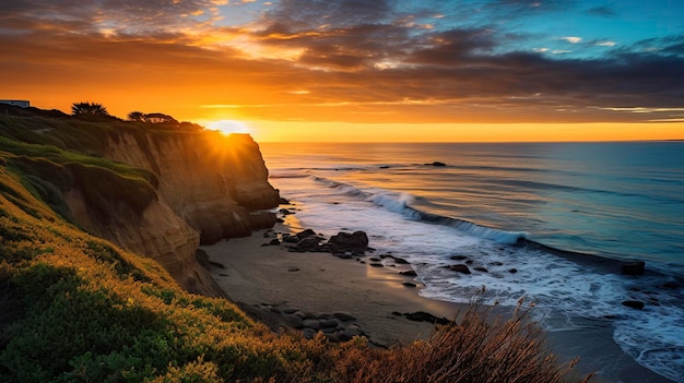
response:
M154 171L160 201L200 232L202 243L270 227L278 205L259 146L246 134L189 132L110 137L105 156Z

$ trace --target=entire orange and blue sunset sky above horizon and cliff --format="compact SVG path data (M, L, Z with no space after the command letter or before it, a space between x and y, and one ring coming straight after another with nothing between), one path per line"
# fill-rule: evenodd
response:
M0 99L257 141L684 139L684 1L2 0Z

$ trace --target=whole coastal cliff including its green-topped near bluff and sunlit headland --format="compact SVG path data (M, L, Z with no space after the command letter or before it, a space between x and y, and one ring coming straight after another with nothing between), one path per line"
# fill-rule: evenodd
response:
M62 217L158 262L187 290L222 295L200 243L271 227L278 191L245 134L26 116L0 120L0 149ZM56 147L58 146L58 147Z

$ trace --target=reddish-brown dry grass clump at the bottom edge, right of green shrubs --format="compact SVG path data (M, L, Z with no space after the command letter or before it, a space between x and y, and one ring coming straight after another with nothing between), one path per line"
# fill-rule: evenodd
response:
M547 350L542 330L529 320L522 302L506 321L491 321L487 308L472 304L455 324L437 328L426 340L365 354L357 368L339 371L339 381L588 382L591 375L575 378L575 363L576 360L561 363Z

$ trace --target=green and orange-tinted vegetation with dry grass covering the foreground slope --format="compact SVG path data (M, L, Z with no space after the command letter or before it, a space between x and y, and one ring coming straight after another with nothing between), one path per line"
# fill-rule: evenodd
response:
M2 382L573 381L524 311L491 322L473 307L426 340L384 350L363 338L276 335L232 302L188 294L155 262L69 223L59 190L50 192L60 171L142 194L154 192L153 175L90 155L101 140L92 132L113 125L48 122L59 134L0 117ZM96 203L104 191L92 192Z

